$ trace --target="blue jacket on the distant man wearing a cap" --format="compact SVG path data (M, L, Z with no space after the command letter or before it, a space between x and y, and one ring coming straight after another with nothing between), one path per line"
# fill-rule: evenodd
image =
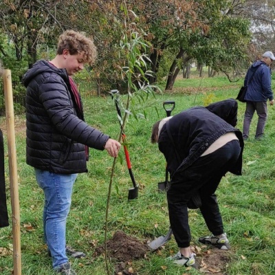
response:
M251 82L248 82L256 70ZM263 61L254 62L248 73L245 76L244 86L248 85L248 91L245 94L245 100L248 101L267 101L273 100L273 93L271 89L271 70Z

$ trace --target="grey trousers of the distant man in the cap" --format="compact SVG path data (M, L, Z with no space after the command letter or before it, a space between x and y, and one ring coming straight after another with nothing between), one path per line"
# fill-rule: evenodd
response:
M246 102L245 118L243 120L243 138L248 139L250 124L254 113L258 115L258 123L256 128L255 138L263 137L263 131L265 129L265 122L267 121L267 102Z

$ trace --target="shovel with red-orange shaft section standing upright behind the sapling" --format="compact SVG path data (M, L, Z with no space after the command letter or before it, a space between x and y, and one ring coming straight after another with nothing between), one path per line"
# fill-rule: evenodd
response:
M113 98L113 96L118 96L118 90L111 90L111 92L109 93L111 94L111 98ZM118 99L115 98L115 108L116 111L118 112L118 116L120 117L120 127L122 127L122 116L121 116L121 111L120 111L120 107L118 106ZM138 195L138 184L136 184L135 182L135 177L133 176L133 172L132 172L132 166L131 166L131 161L130 161L130 155L129 155L129 151L127 149L126 146L126 135L124 134L124 131L122 131L122 142L124 143L123 148L124 148L124 154L125 154L125 158L126 158L126 164L128 167L128 171L129 171L129 175L131 177L131 181L133 183L133 187L129 188L129 193L128 193L128 199L137 199L137 195Z

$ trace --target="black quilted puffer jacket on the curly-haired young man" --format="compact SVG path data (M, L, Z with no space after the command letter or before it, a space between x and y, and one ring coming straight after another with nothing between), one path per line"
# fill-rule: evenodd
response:
M23 84L27 164L52 173L86 172L85 145L103 150L109 135L84 122L66 70L38 61L23 76Z

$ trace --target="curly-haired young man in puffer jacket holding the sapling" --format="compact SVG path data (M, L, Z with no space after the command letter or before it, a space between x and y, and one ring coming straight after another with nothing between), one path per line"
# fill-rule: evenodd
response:
M87 172L88 148L105 149L117 157L121 146L84 121L80 94L71 78L95 59L94 42L67 30L59 36L56 57L36 62L23 76L27 163L44 191L44 238L54 270L61 274L76 274L66 255L72 250L66 250L65 228L74 181L78 173Z

